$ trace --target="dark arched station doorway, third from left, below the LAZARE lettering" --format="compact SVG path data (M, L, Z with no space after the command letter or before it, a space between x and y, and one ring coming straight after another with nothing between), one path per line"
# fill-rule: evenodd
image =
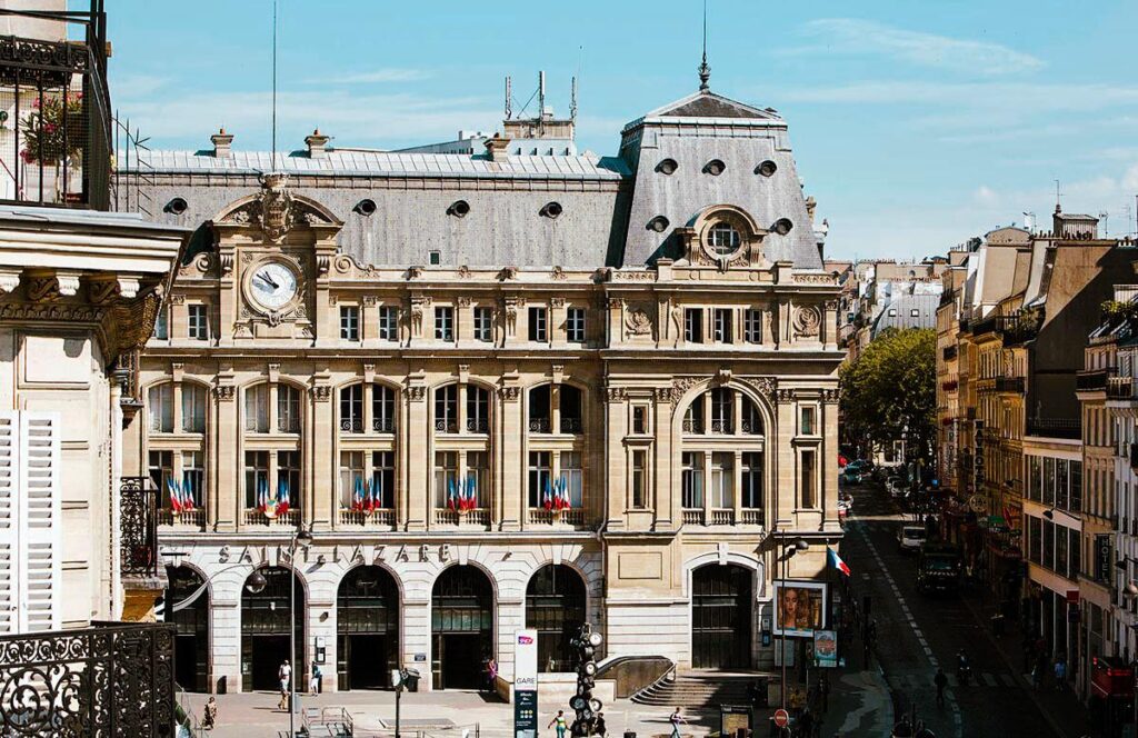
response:
M340 689L390 687L398 669L399 590L379 566L357 566L336 594L336 669Z

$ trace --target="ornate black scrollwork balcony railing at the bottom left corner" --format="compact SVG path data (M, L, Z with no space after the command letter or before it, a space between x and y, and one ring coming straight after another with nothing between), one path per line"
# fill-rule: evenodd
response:
M0 735L173 738L174 626L0 637Z

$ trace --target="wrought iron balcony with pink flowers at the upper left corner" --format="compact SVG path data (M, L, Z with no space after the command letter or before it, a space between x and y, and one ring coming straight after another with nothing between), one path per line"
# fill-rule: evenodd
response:
M59 38L82 24L85 39L0 38L0 109L7 113L0 202L109 210L113 122L101 2L90 13L3 15L58 25Z

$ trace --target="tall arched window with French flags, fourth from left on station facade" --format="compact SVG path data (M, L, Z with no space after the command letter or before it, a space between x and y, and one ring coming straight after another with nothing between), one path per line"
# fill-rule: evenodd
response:
M454 383L432 393L435 525L489 523L490 392Z

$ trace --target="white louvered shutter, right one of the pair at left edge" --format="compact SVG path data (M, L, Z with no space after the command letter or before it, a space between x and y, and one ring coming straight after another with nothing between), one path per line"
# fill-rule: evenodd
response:
M58 412L19 413L19 629L58 630L63 572Z

